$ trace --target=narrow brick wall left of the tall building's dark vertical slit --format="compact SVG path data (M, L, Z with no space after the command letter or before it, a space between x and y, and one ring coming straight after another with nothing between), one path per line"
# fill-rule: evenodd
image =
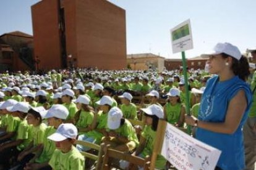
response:
M60 68L58 0L43 0L32 6L35 57L40 69Z

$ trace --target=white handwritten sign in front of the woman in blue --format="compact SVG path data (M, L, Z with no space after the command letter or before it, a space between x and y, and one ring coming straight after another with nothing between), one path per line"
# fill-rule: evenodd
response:
M220 150L167 124L161 155L177 169L215 169L220 154Z

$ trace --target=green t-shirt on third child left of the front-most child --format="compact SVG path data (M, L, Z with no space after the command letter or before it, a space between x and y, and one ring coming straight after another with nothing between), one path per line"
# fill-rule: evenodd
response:
M22 139L23 142L17 146L17 150L23 150L24 148L28 147L30 142L33 139L33 131L32 126L27 123L26 119L23 119L18 127L17 130L17 138Z

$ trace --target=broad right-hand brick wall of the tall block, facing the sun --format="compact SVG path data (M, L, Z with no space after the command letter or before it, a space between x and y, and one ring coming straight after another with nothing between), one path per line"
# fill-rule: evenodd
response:
M103 0L76 0L79 67L126 68L125 10Z

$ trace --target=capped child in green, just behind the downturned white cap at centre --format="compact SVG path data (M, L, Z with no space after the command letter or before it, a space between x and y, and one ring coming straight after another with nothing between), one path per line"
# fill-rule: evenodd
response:
M132 102L132 95L129 92L124 92L124 94L119 95L121 98L122 105L120 106L125 119L138 119L137 118L137 108Z

